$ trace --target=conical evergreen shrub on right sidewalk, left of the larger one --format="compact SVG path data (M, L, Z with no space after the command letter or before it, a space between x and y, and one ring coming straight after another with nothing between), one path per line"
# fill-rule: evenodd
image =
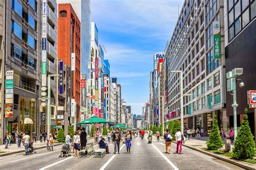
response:
M218 150L223 147L223 140L220 138L217 116L214 115L212 130L209 139L206 141L208 150Z

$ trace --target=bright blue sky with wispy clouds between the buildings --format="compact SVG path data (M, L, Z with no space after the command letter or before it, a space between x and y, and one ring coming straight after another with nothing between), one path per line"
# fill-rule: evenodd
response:
M91 0L91 22L107 53L110 75L122 86L122 99L133 114L149 101L153 54L164 52L184 0ZM180 7L179 7L180 8Z

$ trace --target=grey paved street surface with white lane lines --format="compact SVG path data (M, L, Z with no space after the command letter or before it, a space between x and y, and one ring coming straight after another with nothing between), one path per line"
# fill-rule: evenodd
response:
M93 141L93 139L89 139ZM153 137L152 144L147 139L133 138L131 154L126 146L120 145L121 154L110 154L100 158L59 158L61 145L49 152L46 148L36 150L36 154L24 156L17 153L0 157L0 167L4 169L241 169L227 162L183 147L183 154L174 154L176 144L171 146L171 154L165 154L164 140Z

